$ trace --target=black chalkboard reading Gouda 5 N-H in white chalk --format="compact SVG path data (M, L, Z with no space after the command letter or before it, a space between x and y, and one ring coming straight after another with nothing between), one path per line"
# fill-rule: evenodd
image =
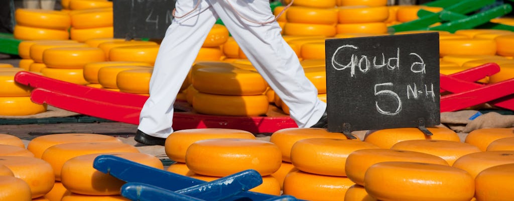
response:
M325 41L329 132L440 124L439 35Z

